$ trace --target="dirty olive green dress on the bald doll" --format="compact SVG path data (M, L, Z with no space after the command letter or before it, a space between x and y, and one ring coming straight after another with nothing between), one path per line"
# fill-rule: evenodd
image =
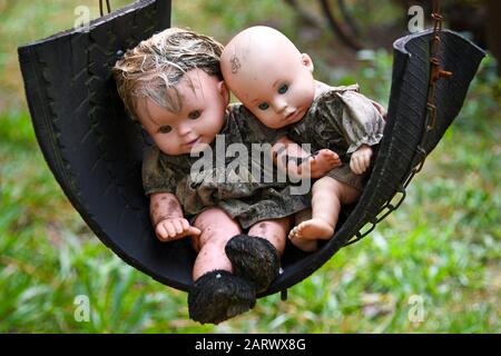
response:
M362 190L365 175L350 169L350 157L362 145L374 146L383 138L384 119L372 100L358 93L358 86L330 87L318 82L315 99L298 122L287 127L296 144L310 144L312 151L328 148L343 165L326 176Z

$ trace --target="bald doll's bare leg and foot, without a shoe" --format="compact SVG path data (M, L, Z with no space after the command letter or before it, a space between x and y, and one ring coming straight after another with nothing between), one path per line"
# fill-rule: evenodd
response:
M328 239L334 234L342 204L355 202L360 191L331 177L323 177L312 187L312 219L295 227L289 238L299 247L304 240ZM299 247L301 248L301 247Z

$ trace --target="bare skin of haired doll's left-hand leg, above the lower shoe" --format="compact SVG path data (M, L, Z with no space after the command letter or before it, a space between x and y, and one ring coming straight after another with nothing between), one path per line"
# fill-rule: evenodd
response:
M197 280L216 269L233 271L232 263L225 254L225 246L232 237L240 234L238 222L222 209L210 208L200 212L194 226L199 228L202 234L194 237L198 256L193 268L193 279Z

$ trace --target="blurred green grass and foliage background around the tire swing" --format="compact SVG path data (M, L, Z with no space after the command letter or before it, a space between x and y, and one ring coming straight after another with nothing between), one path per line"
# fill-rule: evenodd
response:
M131 1L110 2L118 9ZM363 46L354 51L326 24L321 1L173 2L174 26L223 43L252 24L276 27L312 56L317 79L358 82L363 93L383 103L391 42L407 33L413 3L343 1ZM492 1L460 2L475 11L463 16L471 20ZM453 17L454 2L444 3L445 19ZM185 293L138 273L96 238L57 185L35 138L17 47L72 27L77 6L98 17L97 4L0 0L1 333L501 332L501 81L492 56L397 211L291 288L287 301L273 295L235 319L200 326L188 318ZM345 19L338 2L331 1L331 9ZM350 23L343 26L353 32ZM471 26L454 26L478 38ZM89 322L75 318L79 295L89 298Z

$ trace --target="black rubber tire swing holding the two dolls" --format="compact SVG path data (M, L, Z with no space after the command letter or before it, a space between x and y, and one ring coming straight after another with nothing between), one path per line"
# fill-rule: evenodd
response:
M317 251L299 254L287 247L283 274L259 297L282 290L285 298L288 287L396 209L458 116L484 51L442 30L436 8L433 18L434 29L393 44L386 127L360 200ZM119 51L169 26L170 1L140 0L86 28L21 46L18 53L38 142L71 204L127 264L186 291L195 253L187 239L163 244L155 238L140 177L149 141L127 117L109 70ZM440 79L444 76L449 78Z

